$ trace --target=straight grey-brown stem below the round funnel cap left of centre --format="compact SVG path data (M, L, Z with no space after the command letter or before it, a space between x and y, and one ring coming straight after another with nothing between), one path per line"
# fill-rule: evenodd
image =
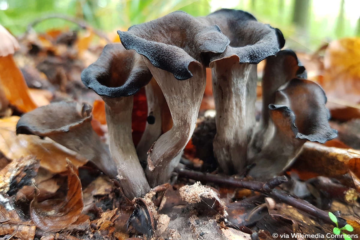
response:
M103 99L109 131L110 153L127 198L144 196L150 191L131 136L131 111L134 96Z

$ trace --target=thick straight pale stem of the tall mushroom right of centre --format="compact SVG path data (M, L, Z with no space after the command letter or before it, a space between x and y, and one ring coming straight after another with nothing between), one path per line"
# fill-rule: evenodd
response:
M213 62L216 110L214 154L227 174L243 169L255 125L256 65L239 64L237 56Z

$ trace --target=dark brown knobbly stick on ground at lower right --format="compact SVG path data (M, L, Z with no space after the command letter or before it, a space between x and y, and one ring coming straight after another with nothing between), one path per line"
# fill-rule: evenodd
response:
M335 225L330 217L328 212L321 210L314 205L310 204L309 202L298 198L297 196L288 194L282 190L275 189L276 186L286 182L288 179L286 176L278 176L273 177L269 181L260 182L260 181L248 181L239 178L234 178L230 176L222 176L222 175L213 175L210 173L202 173L202 172L195 172L185 169L175 169L178 173L179 177L186 177L191 178L196 181L201 182L213 182L220 185L232 186L232 187L242 187L245 189L250 189L253 191L257 191L259 193L263 193L271 198L278 199L283 203L289 204L290 206L302 210L310 215L320 218L326 223L330 223ZM346 225L346 220L337 217L339 227L343 227Z

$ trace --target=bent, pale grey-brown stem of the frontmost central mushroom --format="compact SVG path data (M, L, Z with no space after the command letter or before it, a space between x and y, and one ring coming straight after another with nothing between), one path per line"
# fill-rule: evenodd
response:
M205 90L206 72L198 62L190 62L193 77L180 81L174 74L154 67L147 58L144 60L165 96L174 123L149 150L145 172L150 186L154 187L168 182L179 163L178 155L192 136Z

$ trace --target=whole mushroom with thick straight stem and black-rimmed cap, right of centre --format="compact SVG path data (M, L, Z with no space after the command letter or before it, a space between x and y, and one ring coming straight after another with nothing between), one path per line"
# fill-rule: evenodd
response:
M230 45L210 62L216 109L215 157L228 174L244 169L255 126L256 64L284 45L282 33L241 10L221 9L201 21L218 24Z

